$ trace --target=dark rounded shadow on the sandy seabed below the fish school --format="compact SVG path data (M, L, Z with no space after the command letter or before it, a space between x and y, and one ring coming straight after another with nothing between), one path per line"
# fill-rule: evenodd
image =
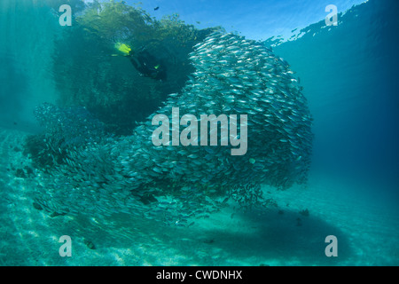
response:
M281 265L340 265L351 256L348 237L335 225L317 217L302 216L297 211L252 210L237 214L241 229L211 229L200 233L209 247L220 248L224 256L235 259L276 259ZM300 218L301 220L298 220ZM243 225L244 224L244 225ZM325 237L337 237L338 256L325 256Z

